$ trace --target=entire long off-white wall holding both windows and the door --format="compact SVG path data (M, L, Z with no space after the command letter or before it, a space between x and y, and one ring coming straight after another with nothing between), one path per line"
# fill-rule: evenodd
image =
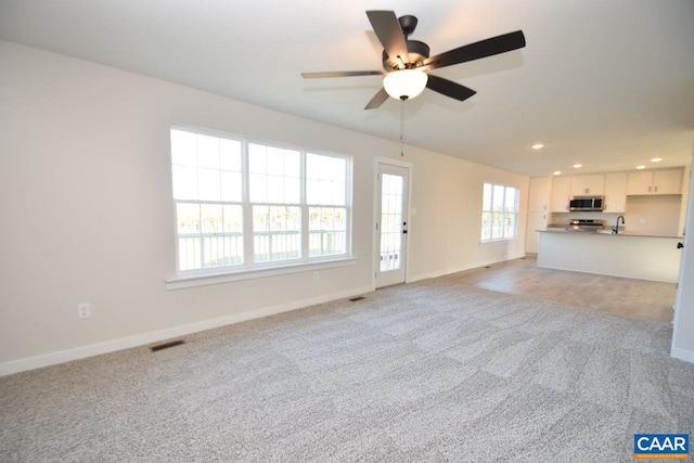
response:
M398 143L10 42L0 62L0 374L373 287L373 159L400 159ZM357 265L319 282L304 272L166 291L171 124L352 155ZM411 146L403 160L410 280L523 255L524 223L509 245L478 241L483 182L520 188L525 204L526 177ZM77 319L81 301L90 319Z

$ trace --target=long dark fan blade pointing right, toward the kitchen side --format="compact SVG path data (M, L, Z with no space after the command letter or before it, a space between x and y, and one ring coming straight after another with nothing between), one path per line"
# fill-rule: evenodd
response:
M450 66L452 64L465 63L467 61L479 60L480 57L493 56L525 47L525 36L523 30L504 34L470 43L445 53L437 54L424 61L426 69Z

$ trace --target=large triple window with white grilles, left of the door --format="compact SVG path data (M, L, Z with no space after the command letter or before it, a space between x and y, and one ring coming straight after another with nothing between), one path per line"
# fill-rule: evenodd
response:
M172 128L179 272L347 257L350 165L348 156Z

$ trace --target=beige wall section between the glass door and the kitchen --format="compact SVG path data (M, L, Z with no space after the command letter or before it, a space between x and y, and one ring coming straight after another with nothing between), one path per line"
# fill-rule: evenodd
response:
M415 152L411 158L414 160L411 206L416 215L410 218L410 281L525 255L527 177L425 152ZM517 240L479 244L484 182L520 189Z

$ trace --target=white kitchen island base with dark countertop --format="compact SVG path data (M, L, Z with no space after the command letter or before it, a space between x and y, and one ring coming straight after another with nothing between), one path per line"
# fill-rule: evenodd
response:
M679 236L538 230L538 267L677 283Z

